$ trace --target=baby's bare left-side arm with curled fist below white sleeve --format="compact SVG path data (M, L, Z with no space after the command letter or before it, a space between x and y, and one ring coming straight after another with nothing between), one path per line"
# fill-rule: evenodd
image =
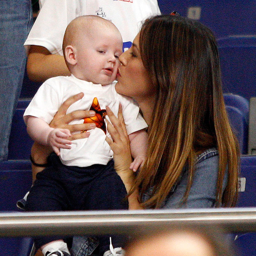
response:
M43 119L35 116L27 116L27 133L37 143L45 146L51 146L54 152L59 156L59 148L70 149L71 141L67 140L71 136L68 129L51 128Z

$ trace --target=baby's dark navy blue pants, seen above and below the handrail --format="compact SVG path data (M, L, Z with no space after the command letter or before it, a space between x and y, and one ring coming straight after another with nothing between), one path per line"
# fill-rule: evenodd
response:
M128 209L127 193L121 178L114 170L114 161L107 165L89 167L65 166L52 153L48 158L51 166L36 175L27 197L27 211L65 210L118 210ZM67 237L35 237L35 246ZM114 247L122 241L112 237ZM109 236L99 237L100 252L109 249ZM100 253L101 254L101 253Z

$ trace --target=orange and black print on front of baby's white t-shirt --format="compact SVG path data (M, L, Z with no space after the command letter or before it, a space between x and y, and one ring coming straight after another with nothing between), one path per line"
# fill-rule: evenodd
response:
M84 118L84 124L86 123L96 123L96 127L100 128L105 134L107 134L106 125L104 122L106 116L106 110L100 109L98 99L95 97L92 101L90 110L96 112L96 115L93 117Z

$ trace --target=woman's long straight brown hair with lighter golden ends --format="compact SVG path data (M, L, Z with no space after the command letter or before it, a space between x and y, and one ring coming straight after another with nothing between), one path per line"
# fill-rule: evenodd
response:
M152 186L152 197L143 204L159 208L188 166L185 202L193 182L196 156L217 147L216 205L235 205L240 153L225 111L219 55L212 32L181 16L155 16L142 26L140 51L157 95L147 159L133 189L140 187L142 195ZM226 167L228 180L222 193Z

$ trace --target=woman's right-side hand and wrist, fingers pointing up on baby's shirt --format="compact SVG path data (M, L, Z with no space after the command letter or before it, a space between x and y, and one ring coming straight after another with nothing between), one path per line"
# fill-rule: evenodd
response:
M132 156L130 151L130 141L125 129L121 104L119 105L118 118L109 107L106 107L107 115L111 123L107 120L107 129L111 138L106 137L110 148L114 153L114 167L117 174L122 179L126 191L129 192L134 183L134 173L130 170Z

